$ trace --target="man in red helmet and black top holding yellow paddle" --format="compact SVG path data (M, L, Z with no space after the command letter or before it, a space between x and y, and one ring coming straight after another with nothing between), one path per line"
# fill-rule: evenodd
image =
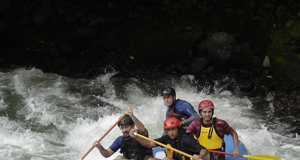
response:
M185 133L180 126L177 118L169 117L163 122L163 128L167 134L162 135L159 138L154 140L149 139L138 134L137 130L134 128L130 130L129 135L147 148L156 146L165 147L165 154L167 156L164 157L163 160L198 160L209 156L207 149L200 145L198 140L194 139L192 134ZM148 158L148 160L154 159L158 158Z

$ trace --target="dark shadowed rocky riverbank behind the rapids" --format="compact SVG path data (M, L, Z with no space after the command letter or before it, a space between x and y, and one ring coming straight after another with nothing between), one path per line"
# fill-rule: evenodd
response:
M0 0L0 68L193 74L300 116L298 0ZM225 83L215 83L227 77ZM238 90L236 90L238 88Z

